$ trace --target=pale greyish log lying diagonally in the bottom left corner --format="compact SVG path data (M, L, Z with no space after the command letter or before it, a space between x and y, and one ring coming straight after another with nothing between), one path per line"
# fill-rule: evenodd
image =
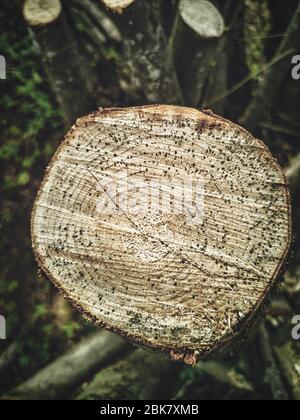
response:
M118 336L106 331L97 332L83 339L3 399L58 399L128 349L129 344Z

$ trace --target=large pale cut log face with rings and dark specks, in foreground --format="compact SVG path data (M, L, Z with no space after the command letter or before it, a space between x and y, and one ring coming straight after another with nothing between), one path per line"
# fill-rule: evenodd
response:
M88 319L191 364L249 326L290 239L265 145L173 106L80 119L32 215L38 263Z

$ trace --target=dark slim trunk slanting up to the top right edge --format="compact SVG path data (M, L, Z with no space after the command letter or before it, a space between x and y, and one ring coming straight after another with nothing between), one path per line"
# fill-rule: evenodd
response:
M276 102L278 91L290 71L291 57L300 49L300 4L298 5L289 28L275 54L282 58L264 74L258 90L246 109L240 123L256 132L270 114Z

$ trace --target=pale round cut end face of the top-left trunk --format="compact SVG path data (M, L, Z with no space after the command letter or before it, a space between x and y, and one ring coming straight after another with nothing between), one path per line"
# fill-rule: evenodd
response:
M31 26L54 22L62 12L60 0L25 0L24 17Z

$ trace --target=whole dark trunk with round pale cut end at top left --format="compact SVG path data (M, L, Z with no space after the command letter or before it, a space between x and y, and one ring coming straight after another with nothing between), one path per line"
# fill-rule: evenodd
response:
M80 58L60 0L26 0L23 14L40 46L46 74L69 127L94 107L88 66Z

